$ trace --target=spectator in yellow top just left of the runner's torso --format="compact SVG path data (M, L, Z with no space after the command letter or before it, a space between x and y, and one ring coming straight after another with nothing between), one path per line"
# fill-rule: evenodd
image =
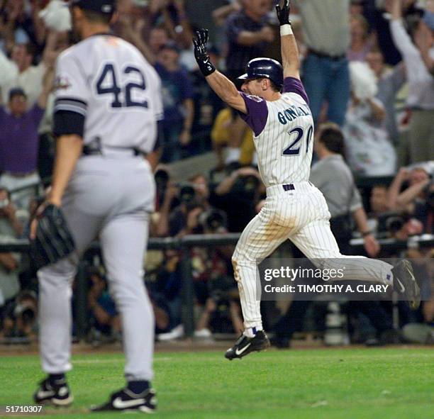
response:
M216 152L216 169L218 170L233 163L238 163L240 166L256 164L253 132L247 124L244 123L240 127L241 145L234 144L234 140L236 141L240 137L240 135L233 135L233 131L238 129L236 121L238 121L237 115L230 107L222 109L214 121L211 140L213 141L213 150Z

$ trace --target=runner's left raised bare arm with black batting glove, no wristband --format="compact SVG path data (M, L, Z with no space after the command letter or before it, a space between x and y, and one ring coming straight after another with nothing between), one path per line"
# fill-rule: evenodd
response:
M211 86L211 89L213 89L226 104L238 111L247 113L245 101L235 87L235 84L224 74L221 74L209 59L208 50L206 48L206 44L208 43L208 30L196 30L196 38L193 39L193 43L194 57L196 58L201 73L204 74L206 78L206 82Z

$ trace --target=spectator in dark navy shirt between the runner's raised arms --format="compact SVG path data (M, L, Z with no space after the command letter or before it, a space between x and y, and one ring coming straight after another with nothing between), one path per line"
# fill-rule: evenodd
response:
M274 30L267 25L270 0L243 1L243 9L226 20L228 55L226 75L233 82L245 72L247 62L265 55L268 43L274 40Z

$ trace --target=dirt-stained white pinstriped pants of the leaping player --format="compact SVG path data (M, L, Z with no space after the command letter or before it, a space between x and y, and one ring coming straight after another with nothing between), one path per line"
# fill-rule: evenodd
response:
M340 254L330 230L330 212L319 189L307 181L294 184L294 188L292 191L284 191L282 185L267 188L265 206L247 225L235 247L232 262L245 328L262 327L257 264L288 239L309 259L321 259L323 267L336 266L330 259L348 258L341 279L391 283L386 278L391 265Z

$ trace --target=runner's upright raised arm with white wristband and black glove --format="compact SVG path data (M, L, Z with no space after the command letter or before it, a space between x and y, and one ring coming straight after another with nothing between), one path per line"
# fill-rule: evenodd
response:
M291 1L284 0L283 6L276 6L277 18L280 22L280 49L282 53L282 65L284 78L295 77L300 79L299 48L292 33L289 13L291 13Z

